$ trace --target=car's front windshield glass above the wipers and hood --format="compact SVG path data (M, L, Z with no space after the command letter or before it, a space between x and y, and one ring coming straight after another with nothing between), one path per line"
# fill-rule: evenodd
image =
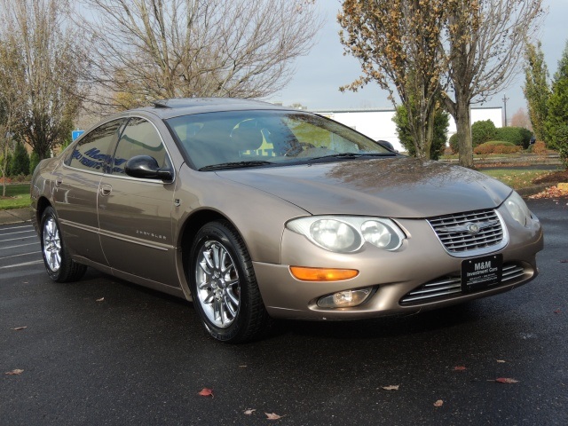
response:
M230 111L167 122L198 170L395 155L343 124L303 112Z

